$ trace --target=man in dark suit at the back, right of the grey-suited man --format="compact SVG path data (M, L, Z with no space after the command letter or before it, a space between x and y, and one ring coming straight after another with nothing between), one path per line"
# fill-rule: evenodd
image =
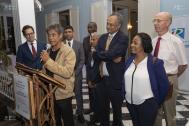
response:
M87 62L88 62L88 59L89 59L89 54L91 53L91 36L93 33L97 32L97 24L95 22L89 22L88 26L87 26L87 30L88 30L88 33L89 35L86 36L84 39L83 39L83 48L84 48L84 52L85 52L85 66L86 66L86 80L87 80L87 84L89 84L89 67ZM88 85L88 89L89 89L89 102L90 102L90 107L89 107L89 110L86 110L84 111L85 114L89 114L91 112L94 112L94 109L95 109L95 106L93 104L93 101L94 101L94 95L93 95L93 91L91 91L91 88L90 86Z

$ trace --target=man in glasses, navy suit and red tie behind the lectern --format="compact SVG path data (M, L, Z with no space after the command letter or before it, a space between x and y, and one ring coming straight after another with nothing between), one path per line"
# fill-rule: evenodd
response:
M40 70L42 68L40 53L46 49L46 43L38 42L35 39L35 31L30 25L25 25L22 28L22 33L26 42L18 47L16 62Z

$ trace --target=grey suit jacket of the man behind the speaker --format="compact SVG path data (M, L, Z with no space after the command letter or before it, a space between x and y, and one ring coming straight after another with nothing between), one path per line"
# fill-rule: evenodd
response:
M73 40L72 48L76 54L75 74L82 74L82 68L85 62L83 45L79 41Z

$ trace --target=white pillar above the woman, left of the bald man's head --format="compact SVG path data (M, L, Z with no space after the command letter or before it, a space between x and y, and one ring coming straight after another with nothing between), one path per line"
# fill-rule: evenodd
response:
M152 20L160 11L160 0L138 0L138 32L146 32L155 37Z

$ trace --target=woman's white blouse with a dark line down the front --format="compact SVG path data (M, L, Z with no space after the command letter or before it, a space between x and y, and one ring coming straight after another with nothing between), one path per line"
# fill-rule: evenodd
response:
M152 88L147 69L147 57L137 66L133 62L124 74L126 100L130 104L140 105L146 99L152 98Z

